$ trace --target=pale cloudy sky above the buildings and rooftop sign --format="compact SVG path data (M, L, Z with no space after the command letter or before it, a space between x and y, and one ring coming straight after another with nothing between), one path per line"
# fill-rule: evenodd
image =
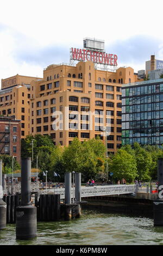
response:
M0 78L42 77L51 64L69 63L85 37L105 41L118 67L135 72L155 54L163 60L162 0L0 0Z

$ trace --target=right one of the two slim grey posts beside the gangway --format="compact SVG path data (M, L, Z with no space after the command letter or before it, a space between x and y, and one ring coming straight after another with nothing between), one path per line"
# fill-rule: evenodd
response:
M75 173L75 199L77 202L76 217L80 217L81 213L81 173Z

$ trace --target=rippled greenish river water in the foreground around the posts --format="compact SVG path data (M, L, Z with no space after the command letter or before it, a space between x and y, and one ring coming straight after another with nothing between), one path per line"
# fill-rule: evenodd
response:
M72 221L38 222L33 240L16 240L15 224L8 224L0 245L163 245L163 227L153 218L85 209Z

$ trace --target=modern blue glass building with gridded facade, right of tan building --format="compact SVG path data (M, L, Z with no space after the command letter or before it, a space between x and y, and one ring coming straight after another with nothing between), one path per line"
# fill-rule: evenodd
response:
M123 84L122 145L163 144L163 79Z

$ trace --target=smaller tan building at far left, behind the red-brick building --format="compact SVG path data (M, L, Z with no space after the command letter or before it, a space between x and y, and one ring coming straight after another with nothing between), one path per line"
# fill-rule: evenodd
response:
M30 83L39 79L17 74L1 80L0 116L21 120L21 138L29 135Z

